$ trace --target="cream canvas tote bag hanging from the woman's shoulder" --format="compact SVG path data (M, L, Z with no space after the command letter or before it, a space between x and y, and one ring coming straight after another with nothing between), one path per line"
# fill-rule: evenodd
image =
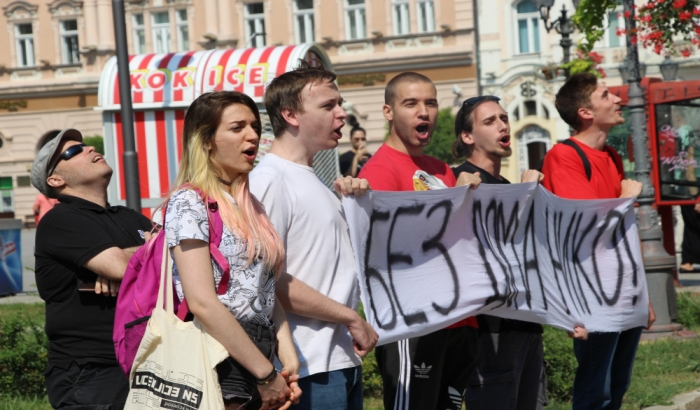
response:
M158 300L129 374L124 409L223 410L216 365L228 352L196 319L183 322L173 313L167 241L164 247Z

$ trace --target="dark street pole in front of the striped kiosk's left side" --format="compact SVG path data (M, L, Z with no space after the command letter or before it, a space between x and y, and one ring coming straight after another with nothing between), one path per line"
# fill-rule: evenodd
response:
M124 0L112 0L112 15L114 16L114 39L117 46L119 101L121 101L122 142L124 144L124 175L122 177L126 188L126 206L141 212L141 184L134 139L134 111L131 106L131 78L126 45ZM115 135L115 138L119 138L119 135Z

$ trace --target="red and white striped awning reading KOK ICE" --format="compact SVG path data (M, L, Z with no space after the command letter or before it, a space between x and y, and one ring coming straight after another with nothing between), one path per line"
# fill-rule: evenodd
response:
M333 69L315 44L132 55L133 106L136 110L187 107L199 95L214 90L243 92L262 103L265 85L293 70L300 59ZM120 108L116 57L107 61L102 72L98 102L103 110Z

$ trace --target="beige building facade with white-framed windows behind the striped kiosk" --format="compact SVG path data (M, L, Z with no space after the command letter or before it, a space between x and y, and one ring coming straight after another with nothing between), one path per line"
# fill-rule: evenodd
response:
M318 43L374 151L384 86L433 79L441 107L476 94L473 0L146 0L126 4L130 54ZM115 54L108 0L0 0L0 215L31 223L29 170L46 132L101 135L97 86ZM2 21L2 20L0 20ZM461 90L455 96L453 90ZM340 151L349 149L350 126Z

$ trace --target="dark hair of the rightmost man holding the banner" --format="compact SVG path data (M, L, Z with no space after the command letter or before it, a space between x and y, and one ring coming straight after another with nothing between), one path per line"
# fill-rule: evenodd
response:
M571 76L559 89L554 105L559 116L576 131L581 129L579 108L591 108L591 94L598 87L598 77L591 73L577 73Z

